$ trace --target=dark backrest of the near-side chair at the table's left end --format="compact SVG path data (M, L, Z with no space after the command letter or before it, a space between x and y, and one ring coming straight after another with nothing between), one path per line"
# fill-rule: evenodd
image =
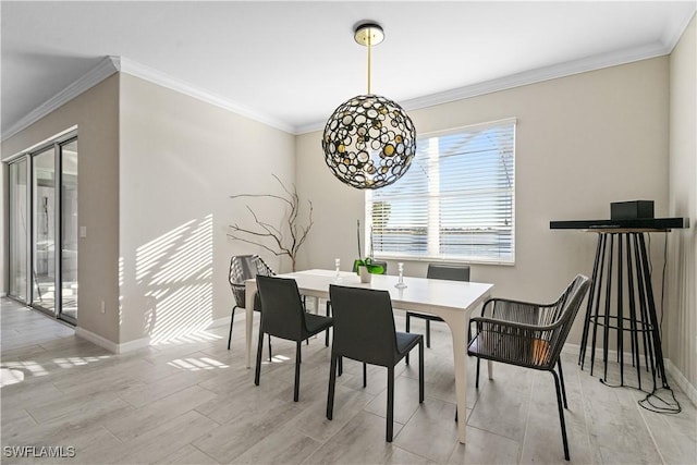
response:
M292 341L307 331L303 301L293 279L257 276L261 297L261 329L271 335Z

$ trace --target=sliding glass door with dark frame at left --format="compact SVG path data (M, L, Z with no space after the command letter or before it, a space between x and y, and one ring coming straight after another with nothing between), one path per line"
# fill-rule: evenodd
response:
M77 138L56 140L9 168L9 295L75 323Z

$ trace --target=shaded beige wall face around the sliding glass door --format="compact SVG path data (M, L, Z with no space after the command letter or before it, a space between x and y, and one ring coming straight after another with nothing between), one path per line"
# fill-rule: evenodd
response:
M77 125L80 240L77 325L117 342L119 237L119 76L112 75L2 142L2 158ZM7 215L5 215L7 217ZM101 314L101 301L106 313Z

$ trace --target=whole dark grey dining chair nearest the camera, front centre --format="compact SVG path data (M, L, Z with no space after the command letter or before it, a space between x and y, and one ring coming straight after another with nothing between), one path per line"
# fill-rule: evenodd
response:
M396 332L390 293L331 284L329 297L334 309L334 336L327 393L327 418L332 419L334 386L342 357L388 369L388 414L386 440L392 442L394 419L394 366L418 345L418 401L424 402L424 336ZM365 369L364 369L365 376ZM365 383L365 378L364 378ZM364 384L365 386L365 384Z

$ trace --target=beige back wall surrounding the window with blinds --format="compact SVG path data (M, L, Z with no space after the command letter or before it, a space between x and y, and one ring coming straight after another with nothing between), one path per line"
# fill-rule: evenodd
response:
M668 90L662 57L409 111L419 134L517 118L516 262L474 265L472 279L494 283L496 295L552 301L576 273L591 274L596 236L550 231L550 220L609 218L611 201L632 199L653 199L657 217L668 216ZM301 195L316 205L301 268L333 268L339 257L347 269L364 195L333 178L320 138L314 132L296 140ZM652 238L655 269L663 241ZM405 262L405 272L425 276L426 267ZM582 320L572 343L580 340Z

